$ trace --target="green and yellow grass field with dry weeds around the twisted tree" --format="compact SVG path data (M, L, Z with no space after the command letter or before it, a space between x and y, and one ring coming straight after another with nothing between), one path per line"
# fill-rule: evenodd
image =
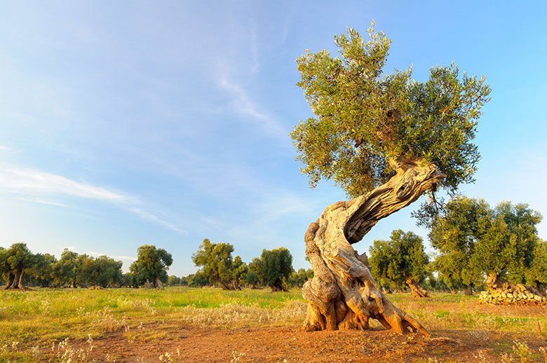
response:
M205 337L201 341L215 346L210 340L223 332L243 334L239 350L245 350L244 339L256 338L261 331L274 335L290 331L295 340L306 342L313 339L313 334L321 339L344 338L340 334L298 332L306 303L296 290L271 293L268 290L225 292L182 287L161 291L39 289L2 291L0 296L0 362L190 362L193 360L189 357L194 355L181 358L181 349L188 346L177 344L201 334ZM433 294L430 299L391 294L389 299L417 317L431 331L433 339L445 337L449 343L443 344L453 345L444 351L442 347L433 346L437 341L424 341L423 351L413 353L410 360L404 360L401 355L403 362L459 362L459 350L462 354L465 350L473 350L468 352L469 359L461 362L547 362L543 354L543 346L547 348L545 308L478 306L476 296L452 294ZM380 341L388 339L388 335L381 335L386 332L380 324L371 323ZM181 335L182 330L187 331L186 335ZM246 332L250 333L245 336ZM358 334L366 336L369 333ZM350 334L346 340L355 337L360 338ZM389 339L395 339L393 357L399 357L395 353L398 345L406 341L397 341L400 338L391 335ZM199 345L200 341L193 344ZM109 352L106 348L109 345L119 350ZM155 347L155 355L148 354L151 348L147 347L151 345ZM163 355L158 355L162 346L171 351L166 348ZM208 350L209 346L204 345L203 350ZM135 353L131 359L127 358L124 347L140 352L140 355ZM205 352L195 354L198 353L203 362L283 362L283 359L292 362L291 358L294 362L306 362L302 357L290 357L289 350L279 357L264 355L264 360L253 359L251 352L237 353L235 350L219 352L218 359L208 358ZM370 353L371 357L373 353ZM311 358L307 361L312 361ZM364 355L363 359L362 362L368 362ZM357 362L351 359L341 362L349 361Z

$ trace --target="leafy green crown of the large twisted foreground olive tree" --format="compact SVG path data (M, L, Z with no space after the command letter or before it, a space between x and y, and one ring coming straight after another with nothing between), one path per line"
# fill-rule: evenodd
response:
M331 179L355 197L393 175L398 157L435 163L454 191L473 181L480 155L472 143L489 100L484 77L459 74L458 67L433 67L425 83L412 69L383 75L391 40L368 29L365 42L354 29L335 36L340 57L327 50L297 59L312 118L291 133L297 160L310 185Z

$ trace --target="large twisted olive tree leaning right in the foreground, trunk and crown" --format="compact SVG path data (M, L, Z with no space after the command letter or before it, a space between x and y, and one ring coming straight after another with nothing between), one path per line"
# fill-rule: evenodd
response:
M351 245L424 193L473 181L489 87L454 64L433 67L424 82L411 68L384 74L391 41L372 26L368 35L348 29L335 36L338 57L306 50L297 59L297 85L313 111L291 132L297 160L312 187L330 179L354 198L326 207L304 235L314 273L302 289L304 329L368 329L373 318L398 333L428 334L386 299Z

